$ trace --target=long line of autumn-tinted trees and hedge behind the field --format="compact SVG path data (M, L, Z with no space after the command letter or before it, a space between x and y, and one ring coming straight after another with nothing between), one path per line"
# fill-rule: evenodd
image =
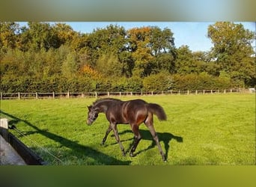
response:
M209 25L209 52L177 48L171 29L157 26L80 33L65 23L0 24L2 92L204 90L256 82L255 32L234 22Z

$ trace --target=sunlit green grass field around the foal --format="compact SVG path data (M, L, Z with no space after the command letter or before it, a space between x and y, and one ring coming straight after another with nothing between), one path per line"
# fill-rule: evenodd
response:
M101 146L108 128L105 114L92 126L85 123L94 98L1 100L1 117L9 118L26 136L10 132L49 165L255 165L255 94L138 97L165 109L168 120L154 117L154 126L167 163L144 124L135 157L121 155L112 132ZM118 125L118 131L129 149L130 126Z

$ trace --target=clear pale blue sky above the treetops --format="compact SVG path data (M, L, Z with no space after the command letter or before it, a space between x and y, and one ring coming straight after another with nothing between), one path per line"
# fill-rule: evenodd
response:
M51 22L52 24L53 22ZM174 33L174 43L176 47L182 45L189 46L193 52L207 52L213 46L211 40L207 37L207 28L214 22L65 22L70 25L74 31L81 33L91 33L95 28L106 28L107 25L120 25L125 29L158 26L159 28L170 28ZM240 23L240 22L235 22ZM241 22L244 28L255 31L255 22ZM20 25L25 23L19 22ZM253 43L255 46L255 43Z

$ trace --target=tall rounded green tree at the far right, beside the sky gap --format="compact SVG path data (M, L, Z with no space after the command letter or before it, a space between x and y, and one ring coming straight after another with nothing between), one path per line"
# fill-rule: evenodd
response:
M242 24L216 22L208 27L208 37L213 43L213 58L231 79L243 84L255 79L254 32Z

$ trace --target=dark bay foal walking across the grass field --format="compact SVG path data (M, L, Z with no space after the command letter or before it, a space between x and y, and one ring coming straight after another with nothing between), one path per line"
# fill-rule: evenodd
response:
M128 101L121 101L120 99L98 99L92 105L88 106L88 125L91 125L94 120L97 119L98 114L103 112L106 114L107 120L109 120L109 128L106 130L106 135L103 138L101 144L104 144L109 132L113 130L115 139L121 148L123 156L125 156L123 144L120 141L118 135L117 124L128 124L132 128L134 133L134 144L130 150L129 156L134 156L134 151L138 146L138 142L141 140L141 135L138 131L138 126L144 123L150 130L154 141L162 156L162 160L166 162L165 154L162 151L162 147L159 144L159 139L156 135L156 131L153 127L153 114L159 118L159 120L166 120L166 114L160 105L155 103L147 103L142 99L134 99Z

